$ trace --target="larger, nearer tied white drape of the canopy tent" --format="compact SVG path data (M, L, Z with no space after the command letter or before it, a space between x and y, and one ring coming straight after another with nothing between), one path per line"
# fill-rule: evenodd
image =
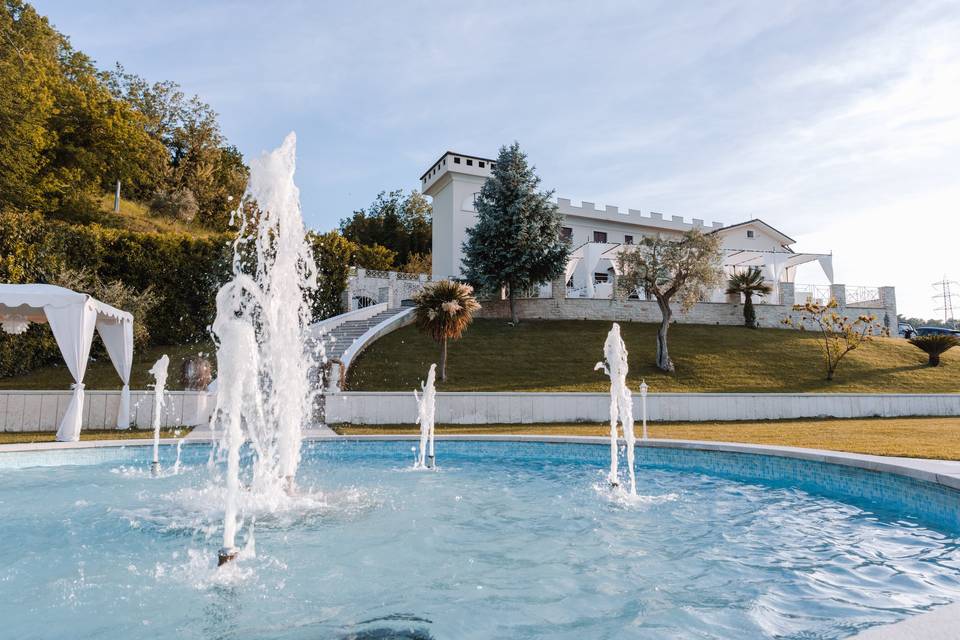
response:
M87 372L97 311L90 302L64 307L44 307L44 311L53 337L60 347L60 353L63 354L63 360L74 380L73 396L57 430L57 440L76 442L80 439L80 425L83 421L83 376Z

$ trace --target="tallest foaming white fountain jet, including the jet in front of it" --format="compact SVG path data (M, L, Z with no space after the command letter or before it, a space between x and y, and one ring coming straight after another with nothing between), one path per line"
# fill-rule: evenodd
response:
M322 344L308 347L317 267L294 184L296 135L250 163L234 212L233 277L217 293L217 407L211 428L226 451L227 499L220 564L237 554L241 448L250 443L250 490L295 490L303 426L322 381L311 383Z

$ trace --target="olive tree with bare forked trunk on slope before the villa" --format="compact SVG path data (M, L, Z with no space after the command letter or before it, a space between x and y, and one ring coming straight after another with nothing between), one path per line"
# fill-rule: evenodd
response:
M720 237L691 229L677 237L645 237L638 244L624 248L617 260L617 287L627 295L653 296L660 307L660 329L657 331L657 368L675 369L667 349L667 332L673 309L680 305L682 313L704 298L707 291L720 286Z

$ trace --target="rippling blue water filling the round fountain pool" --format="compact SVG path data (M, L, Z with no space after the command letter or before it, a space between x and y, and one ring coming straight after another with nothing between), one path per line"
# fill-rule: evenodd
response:
M870 505L644 465L629 499L590 445L411 471L411 446L305 445L221 570L207 447L160 478L145 448L0 469L0 637L843 638L960 599L960 536Z

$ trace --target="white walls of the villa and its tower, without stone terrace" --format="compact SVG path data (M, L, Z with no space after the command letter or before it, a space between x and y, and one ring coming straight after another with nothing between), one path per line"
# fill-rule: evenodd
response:
M463 242L477 216L474 198L494 164L488 158L448 151L421 176L423 193L433 199L434 278L463 275ZM680 234L694 228L722 236L724 268L728 272L756 266L771 282L793 282L798 265L817 261L833 282L832 256L795 252L792 238L762 220L724 226L654 211L612 206L598 209L592 202L574 205L566 198L558 198L557 207L574 249L566 278L572 297L611 297L616 256L624 246L639 242L643 236ZM724 299L719 290L711 296L714 302Z

